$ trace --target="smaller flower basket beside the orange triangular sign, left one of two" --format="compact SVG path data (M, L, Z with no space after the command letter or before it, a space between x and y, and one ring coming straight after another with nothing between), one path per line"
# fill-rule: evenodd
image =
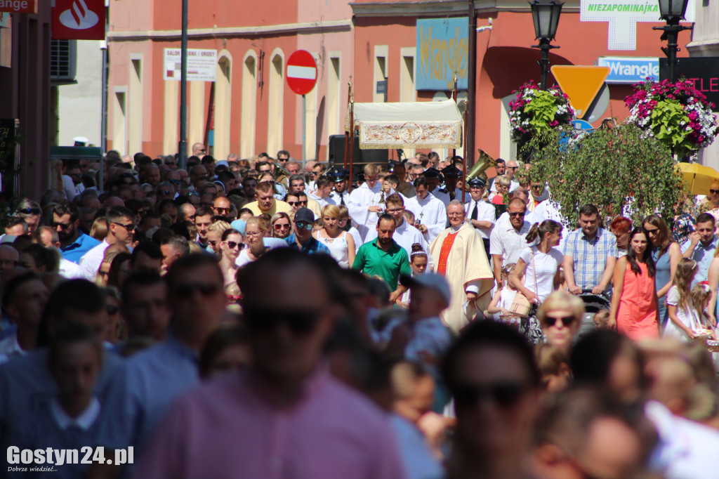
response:
M514 142L523 143L534 134L572 124L574 109L559 86L540 90L530 80L512 93L517 95L509 103L509 124Z

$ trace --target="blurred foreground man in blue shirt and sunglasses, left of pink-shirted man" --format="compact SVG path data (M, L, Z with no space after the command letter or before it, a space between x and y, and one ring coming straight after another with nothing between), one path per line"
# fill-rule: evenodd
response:
M152 433L175 398L199 383L198 356L224 313L224 278L217 260L188 255L173 263L168 274L170 334L135 355L115 375L100 416L98 445L114 460L114 449L134 447L142 460ZM96 465L98 475L119 473L122 466ZM116 477L116 476L114 476Z

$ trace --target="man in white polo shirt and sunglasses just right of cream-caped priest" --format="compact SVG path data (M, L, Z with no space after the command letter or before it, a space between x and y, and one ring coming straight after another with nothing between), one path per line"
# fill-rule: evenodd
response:
M490 234L490 255L492 255L497 288L504 286L502 281L503 265L516 263L523 248L529 246L525 237L531 224L524 221L526 211L527 204L523 199L511 199L507 206L509 224L498 223Z

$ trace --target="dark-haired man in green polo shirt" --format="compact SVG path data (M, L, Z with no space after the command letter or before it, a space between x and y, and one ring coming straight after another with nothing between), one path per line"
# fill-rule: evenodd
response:
M400 275L411 275L409 257L403 247L398 245L392 235L395 233L395 219L383 214L377 221L377 239L359 247L352 268L366 275L378 276L390 287L390 303L394 303L405 291L406 286L399 284Z

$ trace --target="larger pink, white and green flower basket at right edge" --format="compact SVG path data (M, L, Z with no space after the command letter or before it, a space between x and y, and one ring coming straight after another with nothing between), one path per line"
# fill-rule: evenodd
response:
M646 81L634 85L634 90L625 99L626 121L656 137L675 155L691 155L714 141L719 129L714 104L692 81Z

